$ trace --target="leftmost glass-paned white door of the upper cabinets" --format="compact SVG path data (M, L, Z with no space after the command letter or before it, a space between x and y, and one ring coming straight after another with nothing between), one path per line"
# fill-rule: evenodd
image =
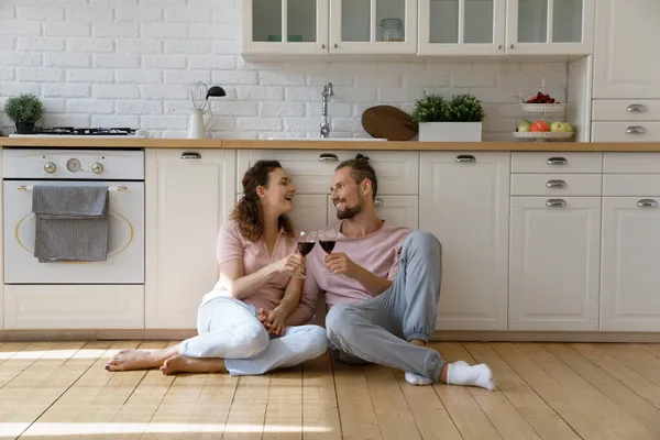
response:
M242 0L241 3L242 55L328 53L328 0Z

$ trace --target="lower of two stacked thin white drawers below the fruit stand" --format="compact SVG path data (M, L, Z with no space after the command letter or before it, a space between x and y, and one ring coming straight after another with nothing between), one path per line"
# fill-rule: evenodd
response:
M512 196L601 196L602 174L514 174Z

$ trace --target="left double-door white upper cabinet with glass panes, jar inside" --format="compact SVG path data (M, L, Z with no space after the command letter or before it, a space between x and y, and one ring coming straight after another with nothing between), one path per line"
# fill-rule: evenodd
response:
M243 0L242 11L245 56L417 53L417 0Z

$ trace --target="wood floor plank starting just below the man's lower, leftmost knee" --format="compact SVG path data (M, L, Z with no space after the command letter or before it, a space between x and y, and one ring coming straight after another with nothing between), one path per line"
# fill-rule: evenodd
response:
M382 440L365 367L334 362L334 384L343 439Z

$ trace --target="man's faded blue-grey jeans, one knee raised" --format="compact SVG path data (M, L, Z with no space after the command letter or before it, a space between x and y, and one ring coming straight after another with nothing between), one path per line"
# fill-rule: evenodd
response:
M373 299L336 305L328 312L326 328L334 359L375 363L438 381L447 361L436 350L408 341L428 341L436 330L441 280L440 242L431 233L413 232L404 243L392 287Z

